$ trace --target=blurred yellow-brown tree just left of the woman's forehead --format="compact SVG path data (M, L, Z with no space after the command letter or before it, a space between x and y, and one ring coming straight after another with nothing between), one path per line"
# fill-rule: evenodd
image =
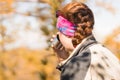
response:
M51 30L48 30L48 25L45 25L45 26L42 26L42 31L46 34L47 33L47 36L50 36L51 34L55 33L56 32L56 29L55 29L55 25L56 25L56 10L60 7L61 3L63 2L64 0L39 0L40 3L44 3L44 4L48 4L49 5L49 16L50 16L50 20L51 20L51 23L50 25L53 26L53 29L52 31ZM41 17L40 17L41 18Z

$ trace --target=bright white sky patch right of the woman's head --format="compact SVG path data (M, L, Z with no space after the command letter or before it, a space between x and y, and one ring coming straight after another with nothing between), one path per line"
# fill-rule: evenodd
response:
M120 0L106 0L107 3L110 3L115 8L115 14L110 13L104 8L96 7L93 5L93 1L95 0L91 0L88 5L95 13L94 33L97 40L102 42L116 27L120 27Z

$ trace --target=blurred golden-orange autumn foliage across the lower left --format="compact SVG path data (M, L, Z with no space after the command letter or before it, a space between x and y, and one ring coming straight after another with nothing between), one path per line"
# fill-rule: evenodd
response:
M56 65L52 50L0 52L0 80L58 80Z

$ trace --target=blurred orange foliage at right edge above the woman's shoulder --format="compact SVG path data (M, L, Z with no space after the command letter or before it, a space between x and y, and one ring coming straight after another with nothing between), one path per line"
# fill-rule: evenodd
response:
M120 27L107 36L104 44L120 59Z

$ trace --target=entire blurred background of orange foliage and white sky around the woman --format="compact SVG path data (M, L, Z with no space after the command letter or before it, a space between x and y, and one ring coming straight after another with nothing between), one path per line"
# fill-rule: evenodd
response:
M49 39L71 1L92 9L94 36L120 59L120 0L0 0L0 80L59 80Z

